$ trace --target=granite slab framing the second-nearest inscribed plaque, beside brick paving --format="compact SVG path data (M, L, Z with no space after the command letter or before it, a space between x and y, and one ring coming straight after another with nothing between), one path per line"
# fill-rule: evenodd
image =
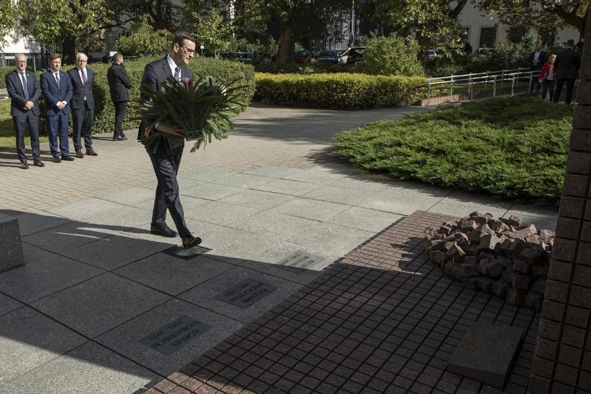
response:
M257 295L257 290L262 289L262 286L257 286L259 283L269 285L269 289L262 294L262 298L252 303L252 305L248 305L248 307L240 307L219 299L221 295L243 281L250 281L254 284L252 286L245 285L243 289L233 293L232 296L237 298L237 301L239 301L238 298L243 300ZM178 298L191 302L199 307L207 308L228 318L248 323L271 307L277 305L294 291L300 289L301 286L299 283L289 282L259 271L253 271L242 266L234 266L230 270L221 273L221 275L208 280L201 286L196 286L194 289L178 295Z

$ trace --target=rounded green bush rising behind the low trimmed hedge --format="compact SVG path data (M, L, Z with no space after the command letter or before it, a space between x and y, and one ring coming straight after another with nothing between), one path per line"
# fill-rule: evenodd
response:
M357 71L370 75L422 76L419 46L411 37L375 37L369 40Z

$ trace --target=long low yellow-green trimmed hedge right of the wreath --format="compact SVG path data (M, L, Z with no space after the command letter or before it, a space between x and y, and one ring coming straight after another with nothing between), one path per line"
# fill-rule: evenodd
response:
M422 77L366 74L256 74L254 101L293 107L359 110L405 107L427 97Z

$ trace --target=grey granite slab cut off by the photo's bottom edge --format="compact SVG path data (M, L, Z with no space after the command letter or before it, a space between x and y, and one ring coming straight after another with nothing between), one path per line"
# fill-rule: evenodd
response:
M103 346L89 342L0 386L10 394L138 393L160 375ZM145 390L142 390L145 391Z

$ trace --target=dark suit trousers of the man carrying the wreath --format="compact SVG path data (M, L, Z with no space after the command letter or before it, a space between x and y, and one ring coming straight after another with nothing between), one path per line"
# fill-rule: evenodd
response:
M158 143L154 142L154 144ZM152 211L152 224L163 225L166 221L166 209L168 208L180 237L189 237L191 231L185 223L185 212L180 203L176 180L183 148L184 146L180 146L171 151L168 143L161 139L155 151L153 144L146 146L146 151L150 156L158 180Z

